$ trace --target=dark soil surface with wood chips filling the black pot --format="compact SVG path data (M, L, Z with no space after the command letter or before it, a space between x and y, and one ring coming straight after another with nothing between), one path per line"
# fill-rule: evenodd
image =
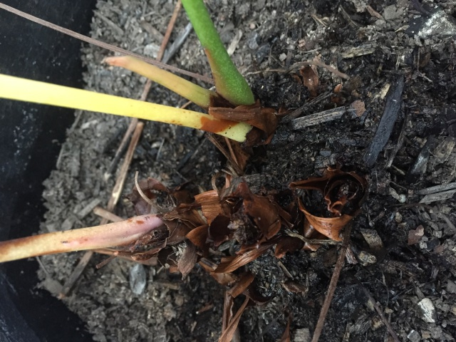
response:
M98 1L92 36L154 58L174 5ZM259 175L262 190L284 190L339 165L370 184L321 341L393 341L373 301L400 341L455 341L455 1L233 0L208 6L257 97L296 118L282 120L271 143L255 150L246 174ZM187 23L182 11L171 42ZM101 63L110 51L85 45L83 52L88 89L140 97L144 78ZM318 86L306 86L309 74L303 83L297 64L303 61L320 61L349 79L314 66ZM169 63L210 76L195 33ZM186 102L160 86L152 86L148 100ZM334 108L339 114L330 112L333 120L306 125L309 115ZM45 184L44 232L100 222L91 210L108 202L115 175L105 180L104 174L129 122L77 113ZM204 133L149 122L123 193L133 189L135 171L168 187L191 182L210 190L225 162ZM442 187L427 190L436 185ZM134 214L126 199L115 213ZM279 341L290 316L291 341L310 341L337 254L338 247L328 245L279 260L271 249L245 266L274 299L244 311L240 340ZM41 286L58 293L81 256L42 257ZM120 259L95 269L105 259L95 255L63 299L95 341L217 341L225 289L201 267L185 279ZM284 284L290 281L301 291L289 291Z

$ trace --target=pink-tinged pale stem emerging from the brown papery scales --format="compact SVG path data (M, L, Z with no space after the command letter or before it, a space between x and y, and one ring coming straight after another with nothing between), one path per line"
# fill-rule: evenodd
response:
M65 232L23 237L0 242L0 262L38 255L123 246L162 226L154 215L142 215L121 222Z

